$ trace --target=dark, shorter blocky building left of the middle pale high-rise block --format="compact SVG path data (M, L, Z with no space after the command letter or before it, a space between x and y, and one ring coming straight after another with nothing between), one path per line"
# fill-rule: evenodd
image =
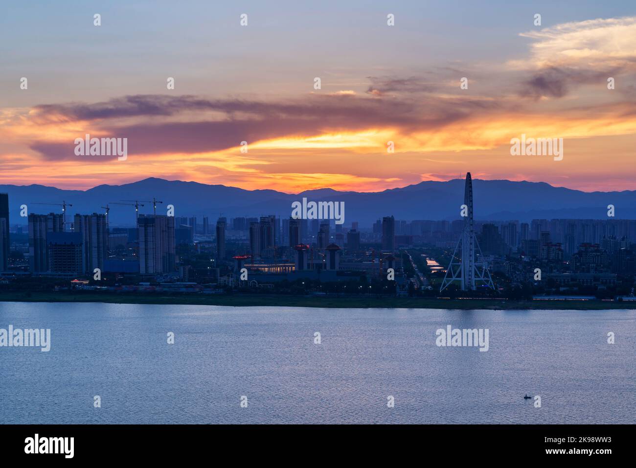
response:
M47 271L50 273L85 273L82 233L48 232L46 234L46 256L48 259Z

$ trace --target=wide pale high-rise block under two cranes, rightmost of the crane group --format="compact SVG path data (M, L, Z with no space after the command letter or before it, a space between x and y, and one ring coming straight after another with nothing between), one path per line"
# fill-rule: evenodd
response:
M175 270L174 217L139 215L139 273L160 274Z

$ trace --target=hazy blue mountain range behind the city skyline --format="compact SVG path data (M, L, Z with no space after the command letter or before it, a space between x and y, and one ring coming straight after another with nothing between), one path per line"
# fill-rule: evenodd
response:
M10 223L26 223L20 218L20 205L26 204L29 213L60 212L57 206L34 202L73 204L67 215L75 213L103 213L101 206L121 200L162 200L158 213L173 204L176 216L209 216L216 222L219 214L261 216L291 214L291 202L303 196L314 201L345 202L345 225L357 221L370 226L382 216L394 215L397 220L453 220L459 218L464 202L464 180L446 182L424 181L407 187L382 192L338 192L331 188L307 190L300 194L284 194L276 190L244 190L225 185L147 178L124 185L99 185L89 190L61 190L44 185L0 185L0 192L8 193ZM636 219L636 191L581 192L553 187L544 182L510 180L473 180L475 217L483 220L534 218L606 218L607 205L616 207L617 219ZM140 209L152 213L151 203ZM132 225L134 208L111 204L111 225ZM199 220L199 222L201 222Z

